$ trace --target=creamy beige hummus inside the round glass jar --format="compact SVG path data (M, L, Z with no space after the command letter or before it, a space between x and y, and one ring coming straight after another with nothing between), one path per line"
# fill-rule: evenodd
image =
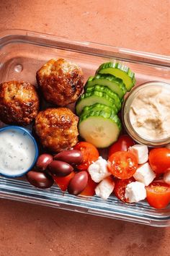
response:
M147 140L170 137L170 86L155 83L139 90L130 105L129 118L140 137Z

